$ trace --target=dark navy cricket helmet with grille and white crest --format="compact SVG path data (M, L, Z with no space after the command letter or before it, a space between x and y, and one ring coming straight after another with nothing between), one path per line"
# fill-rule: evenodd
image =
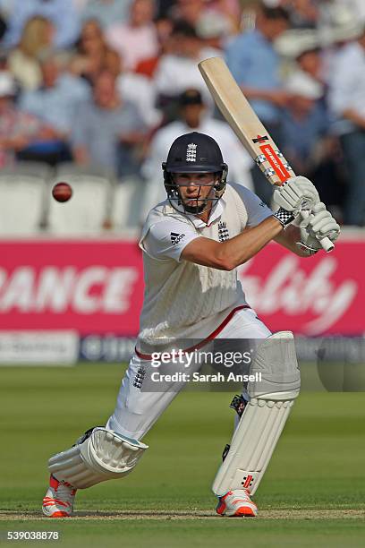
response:
M162 169L167 198L174 210L180 213L200 215L214 207L225 193L228 167L216 141L204 133L192 132L178 137L172 144ZM215 176L208 184L198 180L194 185L199 186L199 194L189 199L183 198L181 188L191 186L191 182L184 185L175 181L175 174L182 173L211 173ZM201 198L201 188L204 186L210 186L211 192Z

